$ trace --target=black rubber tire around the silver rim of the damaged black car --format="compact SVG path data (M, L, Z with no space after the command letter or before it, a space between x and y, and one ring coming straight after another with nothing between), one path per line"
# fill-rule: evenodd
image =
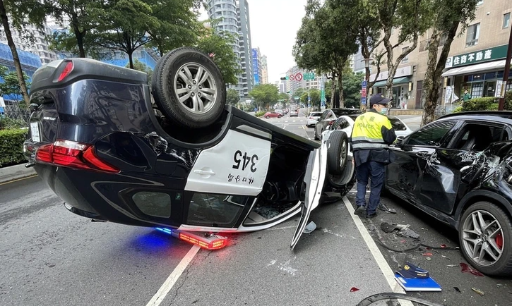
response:
M464 239L465 235L468 235L468 238L472 238L473 235L478 237L478 235L473 233L465 233L463 230L465 226L468 226L468 224L473 222L472 213L475 212L481 213L482 218L486 221L487 225L489 225L490 222L487 222L486 219L489 218L489 221L491 221L491 219L494 218L494 220L496 220L497 223L501 226L501 257L499 257L499 259L496 260L496 262L493 264L487 265L484 264L484 262L477 262L472 258L470 254L468 254L467 246L471 245L471 243L468 243L468 241ZM496 223L494 223L494 225L496 225ZM494 227L489 226L489 231L494 231ZM490 202L476 202L475 204L472 204L468 209L466 209L462 218L460 219L458 232L460 250L462 250L465 259L468 260L468 262L478 271L491 276L512 275L512 221L510 216L508 216L508 214L506 214L503 209ZM497 239L498 238L494 239L495 245L499 245ZM490 244L489 248L494 250ZM489 257L489 255L487 255L487 257L492 258Z

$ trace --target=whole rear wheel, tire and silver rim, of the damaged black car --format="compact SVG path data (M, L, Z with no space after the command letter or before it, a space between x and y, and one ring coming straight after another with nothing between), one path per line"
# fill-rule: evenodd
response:
M512 274L512 223L490 202L472 204L459 225L461 250L468 262L484 274Z

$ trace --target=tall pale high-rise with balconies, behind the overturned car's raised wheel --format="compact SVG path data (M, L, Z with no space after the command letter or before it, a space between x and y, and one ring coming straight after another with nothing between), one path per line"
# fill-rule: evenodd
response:
M238 84L229 85L239 92L240 97L247 97L254 85L251 65L251 25L249 23L249 4L246 0L209 0L208 17L218 19L217 30L232 33L236 39L233 51L239 59L242 73L238 75Z

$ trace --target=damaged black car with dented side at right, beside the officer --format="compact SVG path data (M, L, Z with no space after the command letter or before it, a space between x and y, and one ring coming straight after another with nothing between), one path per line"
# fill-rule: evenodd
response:
M386 191L456 228L463 255L512 275L512 112L451 114L398 137Z

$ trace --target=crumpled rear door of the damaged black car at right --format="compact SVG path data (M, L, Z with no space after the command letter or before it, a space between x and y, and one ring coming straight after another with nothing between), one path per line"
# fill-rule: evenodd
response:
M511 130L501 123L465 121L447 146L437 148L427 159L418 199L428 207L451 214L458 195L465 194L465 186L460 185L460 169L472 164L492 142L509 139Z

